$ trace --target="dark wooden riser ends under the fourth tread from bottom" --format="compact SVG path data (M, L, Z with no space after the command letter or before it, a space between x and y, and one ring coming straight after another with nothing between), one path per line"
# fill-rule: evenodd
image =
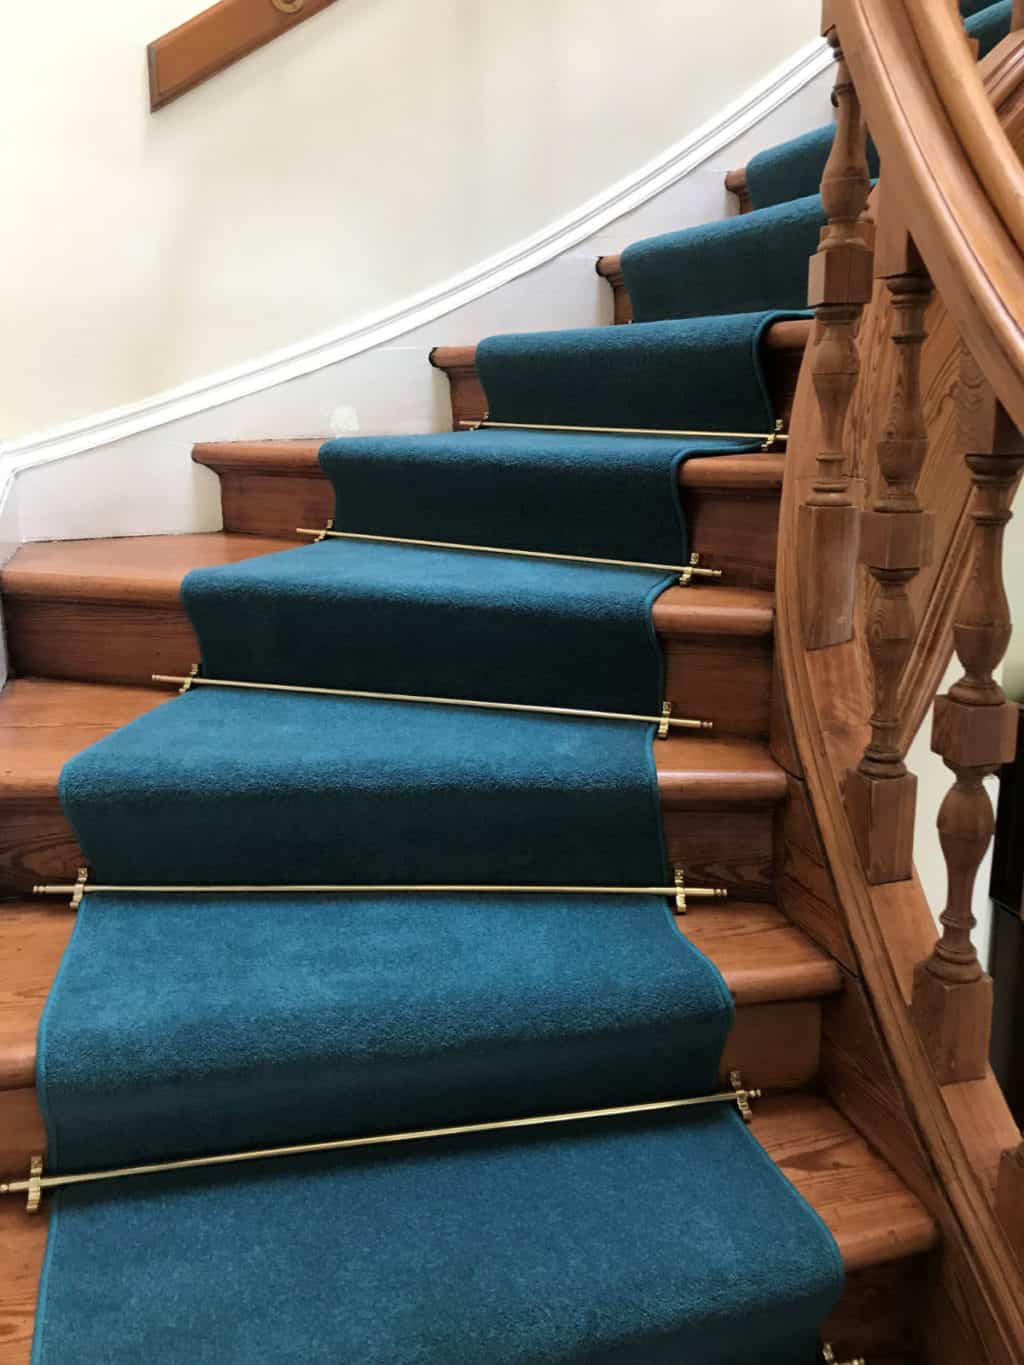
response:
M4 591L3 601L11 667L22 677L147 685L153 673L184 674L199 658L179 603L60 601L51 592L14 591ZM767 733L770 639L662 633L661 643L665 695L677 715L713 721L730 734Z

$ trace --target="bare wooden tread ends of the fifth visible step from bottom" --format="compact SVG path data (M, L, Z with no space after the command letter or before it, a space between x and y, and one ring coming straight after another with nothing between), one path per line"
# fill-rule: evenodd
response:
M325 440L326 437L298 441L205 441L193 446L193 460L217 472L322 479L317 452ZM784 470L785 456L771 450L756 455L696 456L683 464L679 482L683 487L770 490L782 487Z

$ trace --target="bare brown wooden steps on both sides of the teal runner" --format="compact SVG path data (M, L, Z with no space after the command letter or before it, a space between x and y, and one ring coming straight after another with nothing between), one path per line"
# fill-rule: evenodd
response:
M781 326L792 373L808 328ZM433 363L445 367L448 359L434 352ZM781 397L785 404L785 390ZM468 410L461 403L456 411L466 418ZM16 677L0 696L7 755L0 878L8 895L22 897L0 913L3 1170L23 1168L45 1141L33 1088L35 1031L74 916L25 897L34 882L74 879L78 867L57 800L60 768L165 700L152 673L187 673L195 661L179 595L184 573L287 549L296 527L324 524L332 498L315 459L319 444L197 446L193 457L221 479L223 532L29 545L3 571ZM687 708L715 725L713 737L672 737L655 747L662 811L670 857L732 894L726 912L695 908L679 927L718 965L737 1005L724 1072L739 1067L771 1092L756 1107L754 1133L842 1253L848 1287L826 1335L848 1355L908 1361L908 1287L935 1244L935 1223L822 1095L823 1021L847 973L774 905L788 794L767 745L782 463L766 453L683 465L694 547L728 577L670 588L654 609L666 696L681 702L685 678ZM8 1284L0 1362L20 1365L29 1358L44 1227L10 1205L0 1207L0 1280Z

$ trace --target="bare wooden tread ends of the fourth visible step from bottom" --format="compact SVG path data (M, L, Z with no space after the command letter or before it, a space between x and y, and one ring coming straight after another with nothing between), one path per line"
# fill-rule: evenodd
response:
M116 602L180 607L182 579L191 569L236 564L294 541L233 531L132 535L96 541L23 545L0 571L0 594L11 601ZM654 605L658 631L679 635L767 636L774 594L763 588L694 584L672 587Z

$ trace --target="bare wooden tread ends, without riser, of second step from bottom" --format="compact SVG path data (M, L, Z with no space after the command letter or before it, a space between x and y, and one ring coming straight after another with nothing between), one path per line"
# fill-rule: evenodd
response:
M0 1091L35 1081L35 1035L75 916L60 902L0 904ZM840 987L830 957L770 905L698 908L679 928L721 971L737 1005L814 999Z

